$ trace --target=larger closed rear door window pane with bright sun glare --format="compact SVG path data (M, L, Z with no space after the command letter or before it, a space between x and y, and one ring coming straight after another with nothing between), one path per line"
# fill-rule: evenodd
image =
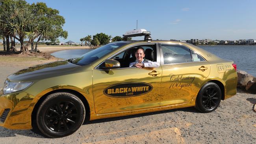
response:
M161 48L164 64L192 62L190 50L185 46L161 44Z

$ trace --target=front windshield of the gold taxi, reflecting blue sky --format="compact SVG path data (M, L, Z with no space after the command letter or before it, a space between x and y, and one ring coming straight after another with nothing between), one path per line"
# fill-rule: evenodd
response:
M104 55L109 54L109 52L112 52L113 50L119 48L120 46L123 46L124 44L126 43L112 42L112 43L106 44L104 46L96 48L95 50L92 50L90 52L83 54L81 57L74 59L72 63L76 65L88 65L93 61L103 57Z

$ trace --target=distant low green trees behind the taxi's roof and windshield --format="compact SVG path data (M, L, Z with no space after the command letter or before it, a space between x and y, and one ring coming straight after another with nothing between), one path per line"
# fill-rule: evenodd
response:
M109 42L115 42L115 41L124 41L123 37L120 36L115 36L112 38L111 35L107 35L105 33L97 33L96 35L93 35L93 39L91 35L88 35L87 37L81 38L80 41L83 44L83 41L85 42L85 45L93 45L93 46L99 46L99 45L105 45L108 44ZM128 41L132 40L131 37L128 38ZM81 46L82 46L81 44Z

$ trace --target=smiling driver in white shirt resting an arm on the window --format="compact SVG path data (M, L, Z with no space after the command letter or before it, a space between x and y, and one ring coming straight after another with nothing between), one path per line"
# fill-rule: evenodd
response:
M145 50L141 47L138 47L136 49L135 57L136 57L135 62L130 63L129 67L136 66L137 68L143 68L143 67L156 68L160 66L158 62L143 59L145 57Z

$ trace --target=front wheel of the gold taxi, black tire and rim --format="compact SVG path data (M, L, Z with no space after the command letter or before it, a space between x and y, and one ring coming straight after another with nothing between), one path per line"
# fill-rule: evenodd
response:
M51 138L74 133L85 118L83 102L74 94L57 92L41 103L36 115L39 130Z

